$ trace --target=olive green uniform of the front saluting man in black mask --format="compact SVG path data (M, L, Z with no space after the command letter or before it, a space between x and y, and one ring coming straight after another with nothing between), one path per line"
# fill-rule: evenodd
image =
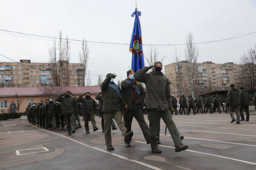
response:
M147 73L148 70L147 67L138 70L134 74L134 78L139 82L144 82L147 89L146 107L148 110L148 120L150 121L151 149L158 148L156 129L160 118L168 127L175 146L183 144L169 111L169 108L172 108L172 103L168 78L162 72L152 71Z

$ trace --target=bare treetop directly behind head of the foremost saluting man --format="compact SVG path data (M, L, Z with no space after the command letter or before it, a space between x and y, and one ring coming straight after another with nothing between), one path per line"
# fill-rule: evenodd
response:
M156 46L150 46L150 49L147 49L147 55L144 55L144 58L146 59L148 65L154 65L154 63L157 61L162 62L166 58L166 56L159 57L159 52Z

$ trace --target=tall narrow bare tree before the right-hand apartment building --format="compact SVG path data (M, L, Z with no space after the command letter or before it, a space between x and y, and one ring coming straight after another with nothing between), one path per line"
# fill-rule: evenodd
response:
M186 36L186 49L185 49L185 59L187 62L187 75L189 76L189 85L192 97L194 97L195 88L195 76L197 72L197 59L198 59L198 48L193 44L193 34L188 32Z

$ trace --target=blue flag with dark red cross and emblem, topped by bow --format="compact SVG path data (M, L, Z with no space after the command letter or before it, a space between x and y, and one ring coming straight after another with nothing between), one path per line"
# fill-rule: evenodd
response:
M131 60L131 71L133 73L137 72L139 69L143 68L144 58L143 58L143 49L142 49L142 37L141 37L141 27L140 27L140 19L141 12L135 11L131 14L132 17L135 15L132 35L131 35L131 43L129 47L129 51L132 53Z

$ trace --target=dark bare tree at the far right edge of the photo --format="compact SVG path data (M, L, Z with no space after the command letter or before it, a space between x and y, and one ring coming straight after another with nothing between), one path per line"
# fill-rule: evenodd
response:
M256 89L256 44L248 49L247 53L240 56L238 84L250 91L251 94Z

